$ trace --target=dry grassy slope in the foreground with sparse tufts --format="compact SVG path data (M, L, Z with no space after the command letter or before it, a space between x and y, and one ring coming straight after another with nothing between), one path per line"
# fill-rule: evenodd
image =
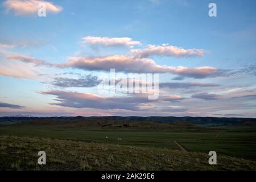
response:
M37 164L38 151L46 151L47 164ZM1 170L256 170L256 162L218 155L209 156L165 148L120 146L72 140L0 138Z

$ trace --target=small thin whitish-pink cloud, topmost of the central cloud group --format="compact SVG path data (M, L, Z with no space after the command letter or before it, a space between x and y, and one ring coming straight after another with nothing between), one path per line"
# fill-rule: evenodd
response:
M100 37L100 36L86 36L82 38L84 43L89 43L92 45L101 45L107 47L114 46L134 46L139 45L141 42L132 41L131 38L108 38L108 37Z

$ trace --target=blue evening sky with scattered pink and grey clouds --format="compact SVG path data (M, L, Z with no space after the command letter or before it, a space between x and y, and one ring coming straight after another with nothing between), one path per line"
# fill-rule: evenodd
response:
M217 16L208 14L212 2ZM41 4L46 16L38 15ZM0 116L255 118L255 7L253 0L0 1ZM130 73L158 75L158 97L102 92L110 69L115 84Z

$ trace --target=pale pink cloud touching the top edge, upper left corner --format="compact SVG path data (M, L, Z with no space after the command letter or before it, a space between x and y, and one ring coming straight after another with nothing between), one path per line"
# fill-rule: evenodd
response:
M3 6L6 12L13 11L15 15L36 15L40 7L38 5L44 3L46 5L46 13L59 13L63 7L53 5L53 3L41 0L6 0Z

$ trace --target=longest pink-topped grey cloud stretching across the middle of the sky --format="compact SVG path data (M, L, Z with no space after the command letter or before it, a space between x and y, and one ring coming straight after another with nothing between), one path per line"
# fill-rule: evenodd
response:
M87 71L110 71L126 73L174 73L181 77L205 78L220 76L222 71L213 67L173 67L158 65L154 60L134 58L128 55L111 55L104 57L70 57L67 63L57 67L72 67Z

